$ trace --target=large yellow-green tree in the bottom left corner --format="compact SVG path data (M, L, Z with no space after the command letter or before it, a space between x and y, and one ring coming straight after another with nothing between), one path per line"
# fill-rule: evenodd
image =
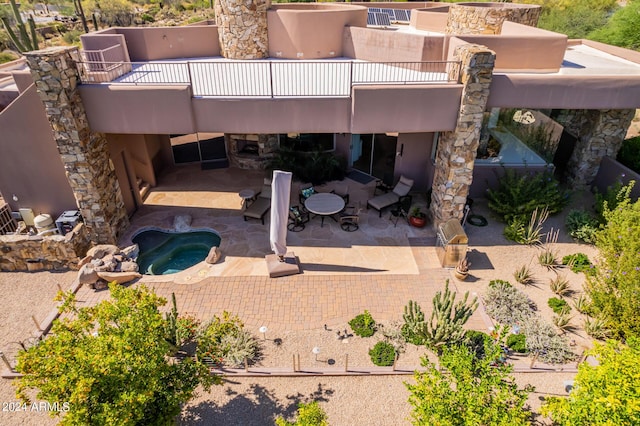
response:
M68 402L65 425L173 424L198 385L220 379L200 362L171 357L158 310L166 300L144 286L109 288L111 300L88 308L63 295L60 310L69 315L18 355L17 395L30 402L27 390L35 388L38 399Z

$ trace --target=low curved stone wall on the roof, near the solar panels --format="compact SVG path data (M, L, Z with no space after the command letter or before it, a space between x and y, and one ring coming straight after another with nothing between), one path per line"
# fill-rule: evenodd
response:
M507 10L461 4L449 6L445 34L500 34Z

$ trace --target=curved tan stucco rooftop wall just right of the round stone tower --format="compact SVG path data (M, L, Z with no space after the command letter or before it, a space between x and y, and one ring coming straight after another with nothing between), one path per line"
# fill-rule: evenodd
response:
M367 26L367 9L341 4L274 4L267 11L267 22L270 57L334 58L344 56L345 26Z

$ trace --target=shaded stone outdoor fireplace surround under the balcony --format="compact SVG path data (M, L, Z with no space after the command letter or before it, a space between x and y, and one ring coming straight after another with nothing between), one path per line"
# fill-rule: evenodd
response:
M257 143L257 155L239 152L238 141L251 141ZM267 163L271 158L273 158L273 155L280 146L277 134L239 135L225 133L224 142L227 146L229 163L233 167L247 170L265 170L267 168Z

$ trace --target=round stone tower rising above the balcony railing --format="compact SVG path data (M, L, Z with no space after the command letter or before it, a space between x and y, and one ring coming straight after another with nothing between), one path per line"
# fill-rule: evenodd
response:
M267 9L271 0L216 0L220 51L228 59L269 56Z

